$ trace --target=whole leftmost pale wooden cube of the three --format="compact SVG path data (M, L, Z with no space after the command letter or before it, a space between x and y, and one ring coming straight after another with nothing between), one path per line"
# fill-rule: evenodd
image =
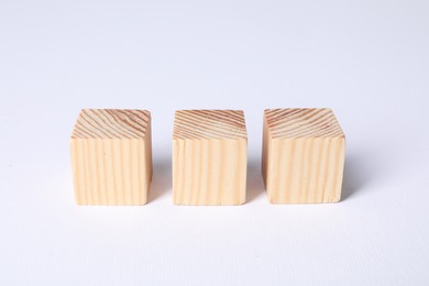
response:
M81 110L70 139L76 202L146 204L151 144L146 110Z

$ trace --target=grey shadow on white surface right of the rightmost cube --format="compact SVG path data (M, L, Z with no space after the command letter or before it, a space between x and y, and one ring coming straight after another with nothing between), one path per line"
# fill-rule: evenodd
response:
M373 166L363 156L345 156L341 200L355 196L371 179Z

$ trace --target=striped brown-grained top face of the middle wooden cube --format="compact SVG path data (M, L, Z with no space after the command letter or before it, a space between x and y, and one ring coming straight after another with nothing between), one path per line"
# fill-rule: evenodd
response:
M241 110L178 110L173 140L246 139Z

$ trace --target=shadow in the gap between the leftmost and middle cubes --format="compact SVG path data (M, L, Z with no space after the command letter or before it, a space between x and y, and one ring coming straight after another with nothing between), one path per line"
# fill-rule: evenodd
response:
M148 191L148 202L152 202L164 196L173 186L172 179L172 160L164 156L154 160L152 183Z

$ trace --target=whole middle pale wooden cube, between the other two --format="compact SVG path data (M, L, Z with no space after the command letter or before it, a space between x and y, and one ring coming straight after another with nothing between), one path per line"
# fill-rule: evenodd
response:
M246 156L243 111L176 111L173 134L174 204L244 204Z

